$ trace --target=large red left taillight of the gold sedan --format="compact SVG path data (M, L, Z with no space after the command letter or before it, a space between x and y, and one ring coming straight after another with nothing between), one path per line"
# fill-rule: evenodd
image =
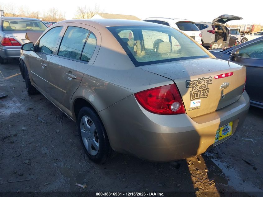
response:
M161 115L184 114L185 108L175 84L155 87L134 94L146 110Z

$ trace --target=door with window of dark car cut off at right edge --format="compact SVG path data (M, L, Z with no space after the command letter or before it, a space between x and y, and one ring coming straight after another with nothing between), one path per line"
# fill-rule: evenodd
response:
M250 100L263 103L263 40L240 47L236 62L247 67L246 91Z

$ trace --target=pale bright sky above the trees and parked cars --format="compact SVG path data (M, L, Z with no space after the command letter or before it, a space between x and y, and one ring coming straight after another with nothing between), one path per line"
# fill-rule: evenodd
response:
M191 21L210 22L222 14L236 15L243 18L241 21L232 23L238 24L260 24L263 25L261 17L263 2L262 0L254 1L253 4L247 4L249 1L209 1L209 0L181 0L181 1L147 1L147 0L0 0L2 3L14 3L17 7L28 6L31 10L43 12L50 7L55 7L65 12L66 19L72 19L76 13L77 6L86 5L95 7L95 3L104 10L105 13L134 15L141 19L146 17L169 17L184 18Z

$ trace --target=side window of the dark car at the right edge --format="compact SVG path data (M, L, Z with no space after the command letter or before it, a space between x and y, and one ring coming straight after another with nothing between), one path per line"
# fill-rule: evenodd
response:
M239 49L239 57L263 59L263 41L259 41Z

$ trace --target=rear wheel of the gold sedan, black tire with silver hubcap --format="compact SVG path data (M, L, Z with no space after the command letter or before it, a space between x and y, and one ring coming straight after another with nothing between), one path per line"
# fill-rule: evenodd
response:
M84 152L92 162L104 164L113 155L104 125L97 113L82 107L77 118L78 132Z

